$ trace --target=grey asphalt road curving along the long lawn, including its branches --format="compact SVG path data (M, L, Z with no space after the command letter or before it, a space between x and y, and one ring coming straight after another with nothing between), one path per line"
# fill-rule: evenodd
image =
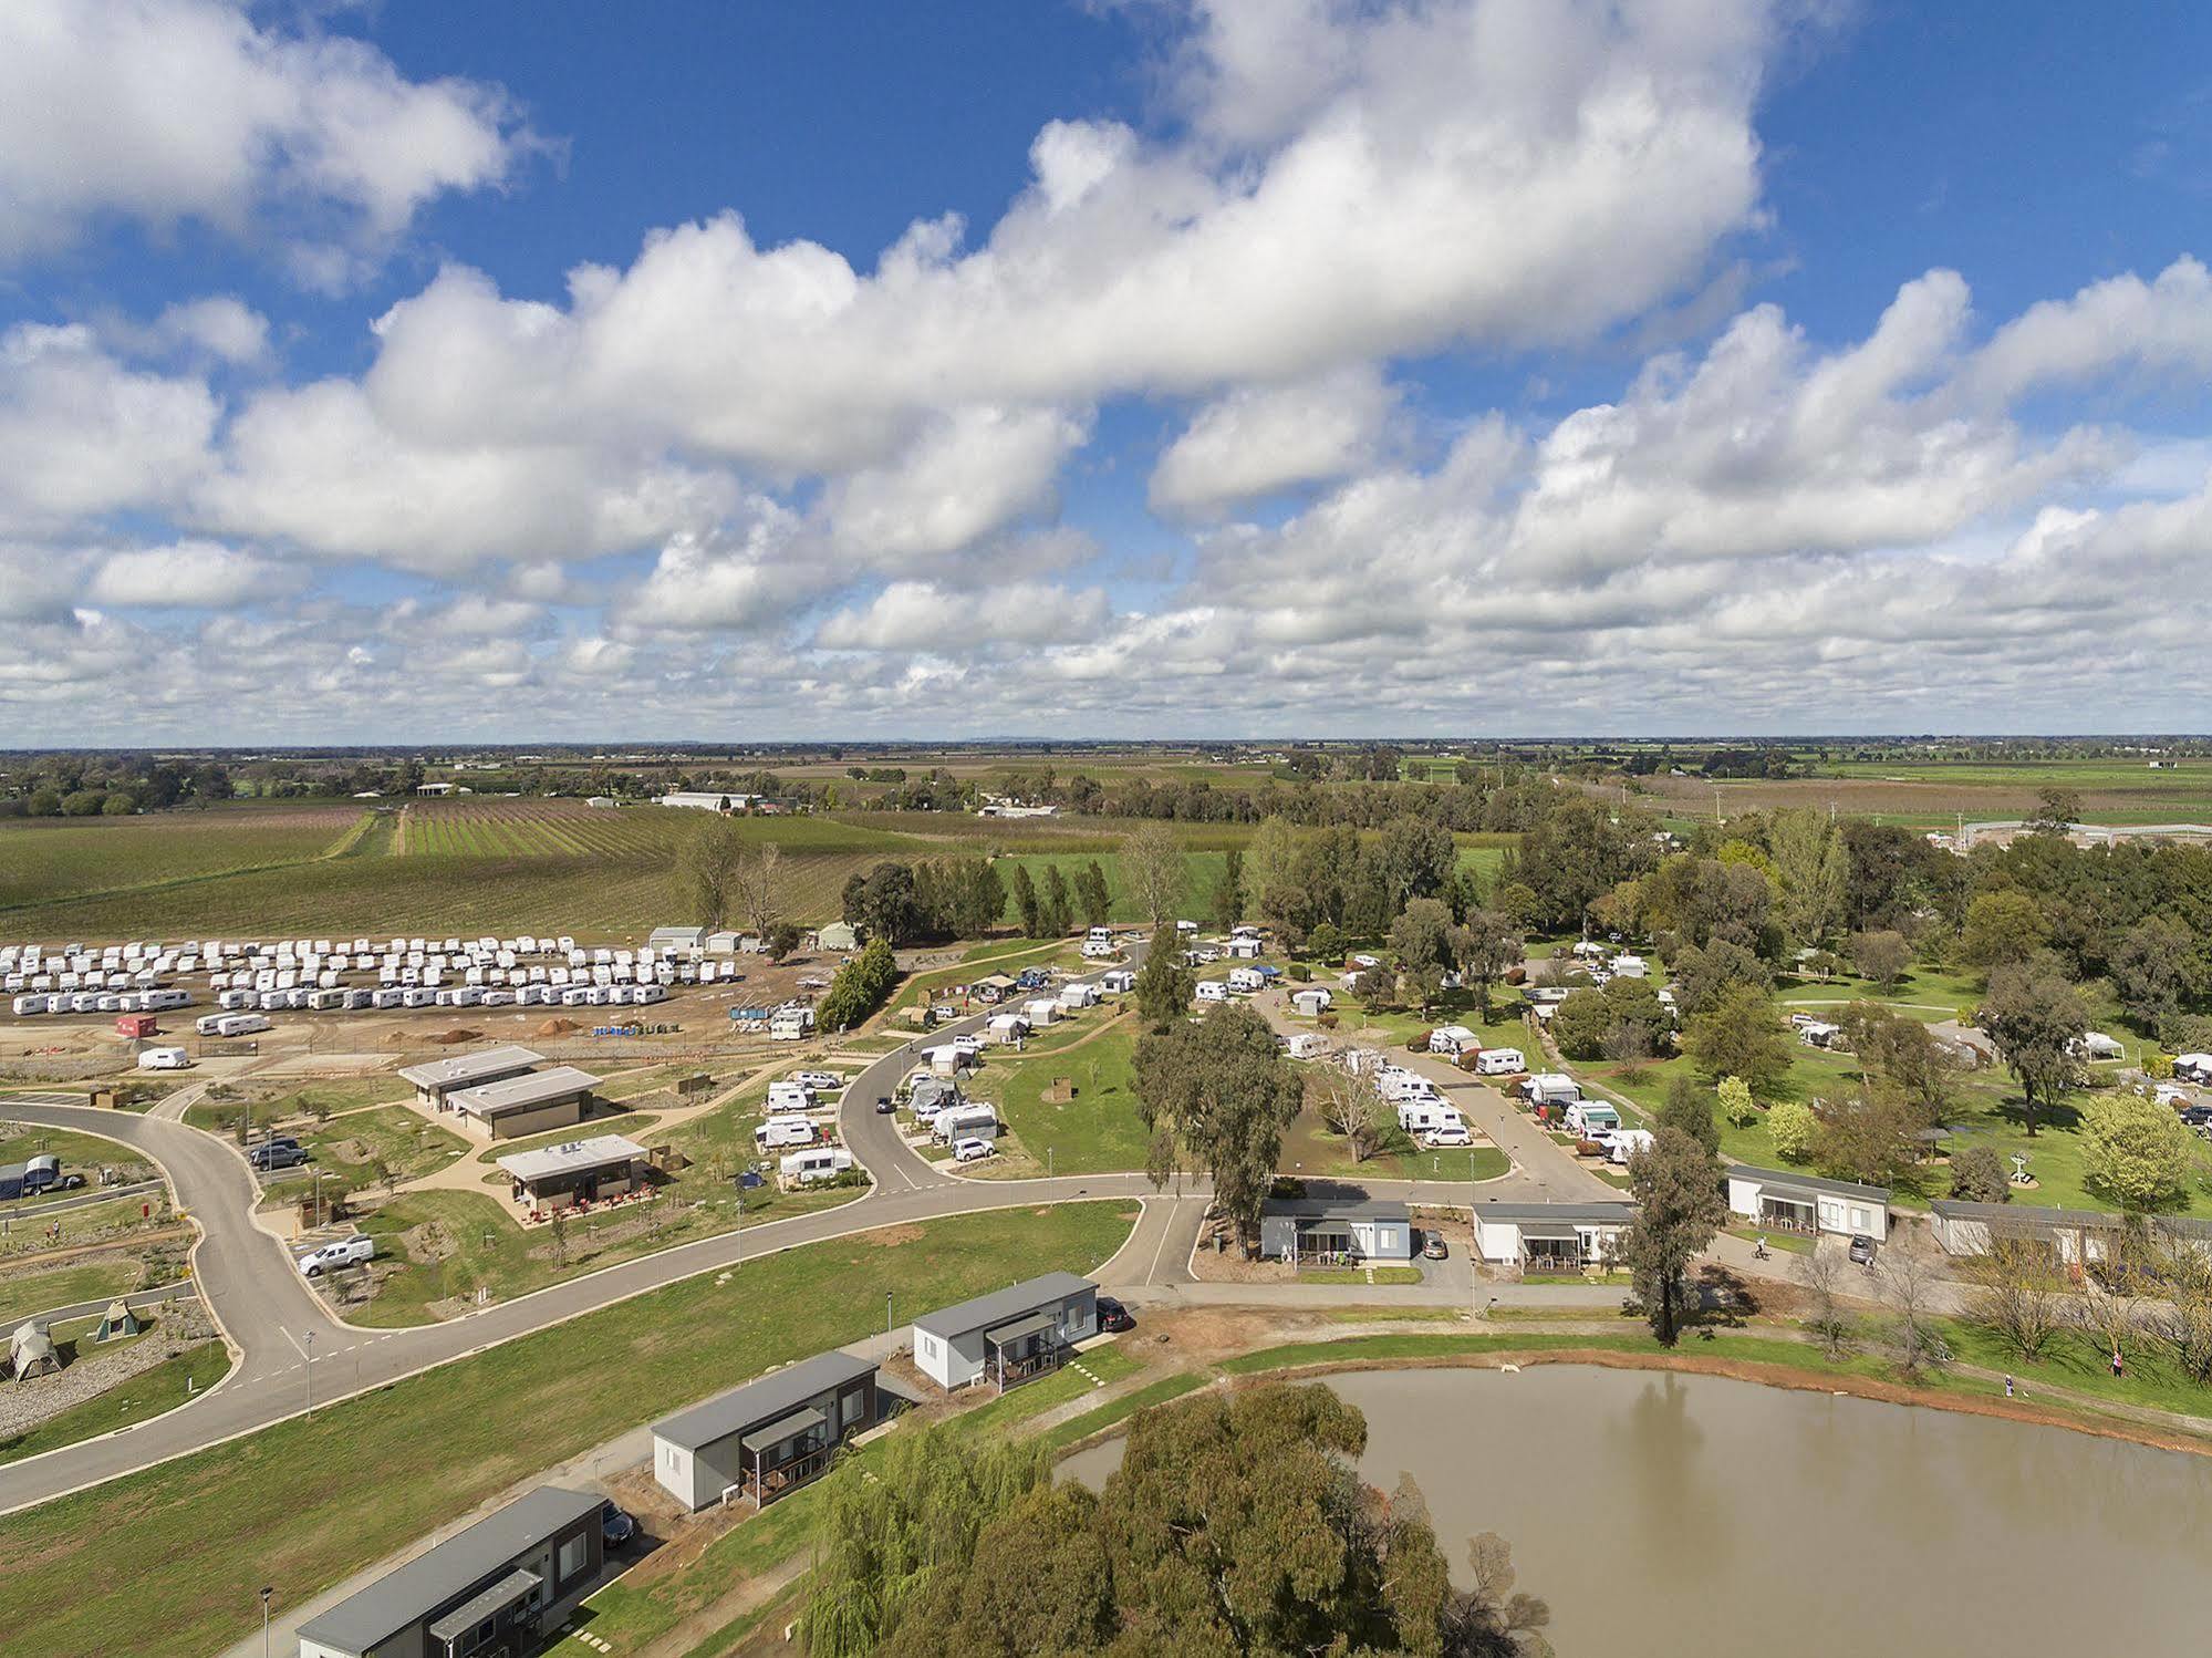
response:
M1141 947L1133 952L1133 961L1139 954ZM1141 1198L1144 1217L1099 1277L1113 1286L1188 1284L1186 1262L1206 1211L1203 1180L1186 1180L1175 1195L1155 1193L1137 1173L962 1180L907 1147L891 1118L876 1116L876 1098L896 1089L922 1047L975 1032L987 1018L989 1014L973 1014L905 1043L847 1085L838 1122L845 1144L874 1180L856 1202L679 1244L445 1324L400 1330L358 1328L330 1315L301 1279L285 1246L252 1222L259 1189L246 1158L230 1142L159 1116L71 1105L69 1096L7 1098L0 1113L9 1120L122 1140L164 1169L175 1204L201 1224L192 1268L232 1348L234 1366L190 1406L0 1468L0 1514L296 1417L310 1406L310 1384L314 1403L332 1403L686 1277L876 1226L1040 1202ZM1360 1184L1374 1195L1411 1202L1469 1200L1462 1182Z

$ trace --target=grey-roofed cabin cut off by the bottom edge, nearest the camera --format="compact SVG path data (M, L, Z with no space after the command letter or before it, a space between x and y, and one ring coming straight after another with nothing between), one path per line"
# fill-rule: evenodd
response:
M599 1581L597 1492L540 1485L299 1627L301 1658L538 1651Z

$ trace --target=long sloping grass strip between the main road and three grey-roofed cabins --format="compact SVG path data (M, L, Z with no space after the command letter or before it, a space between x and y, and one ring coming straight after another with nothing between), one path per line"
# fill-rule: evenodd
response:
M697 1277L0 1519L0 1627L49 1658L188 1658L246 1638L254 1589L299 1605L615 1434L1013 1271L1095 1271L1135 1204L1057 1204L896 1226ZM743 1527L741 1527L743 1530ZM144 1616L148 1607L159 1618Z

